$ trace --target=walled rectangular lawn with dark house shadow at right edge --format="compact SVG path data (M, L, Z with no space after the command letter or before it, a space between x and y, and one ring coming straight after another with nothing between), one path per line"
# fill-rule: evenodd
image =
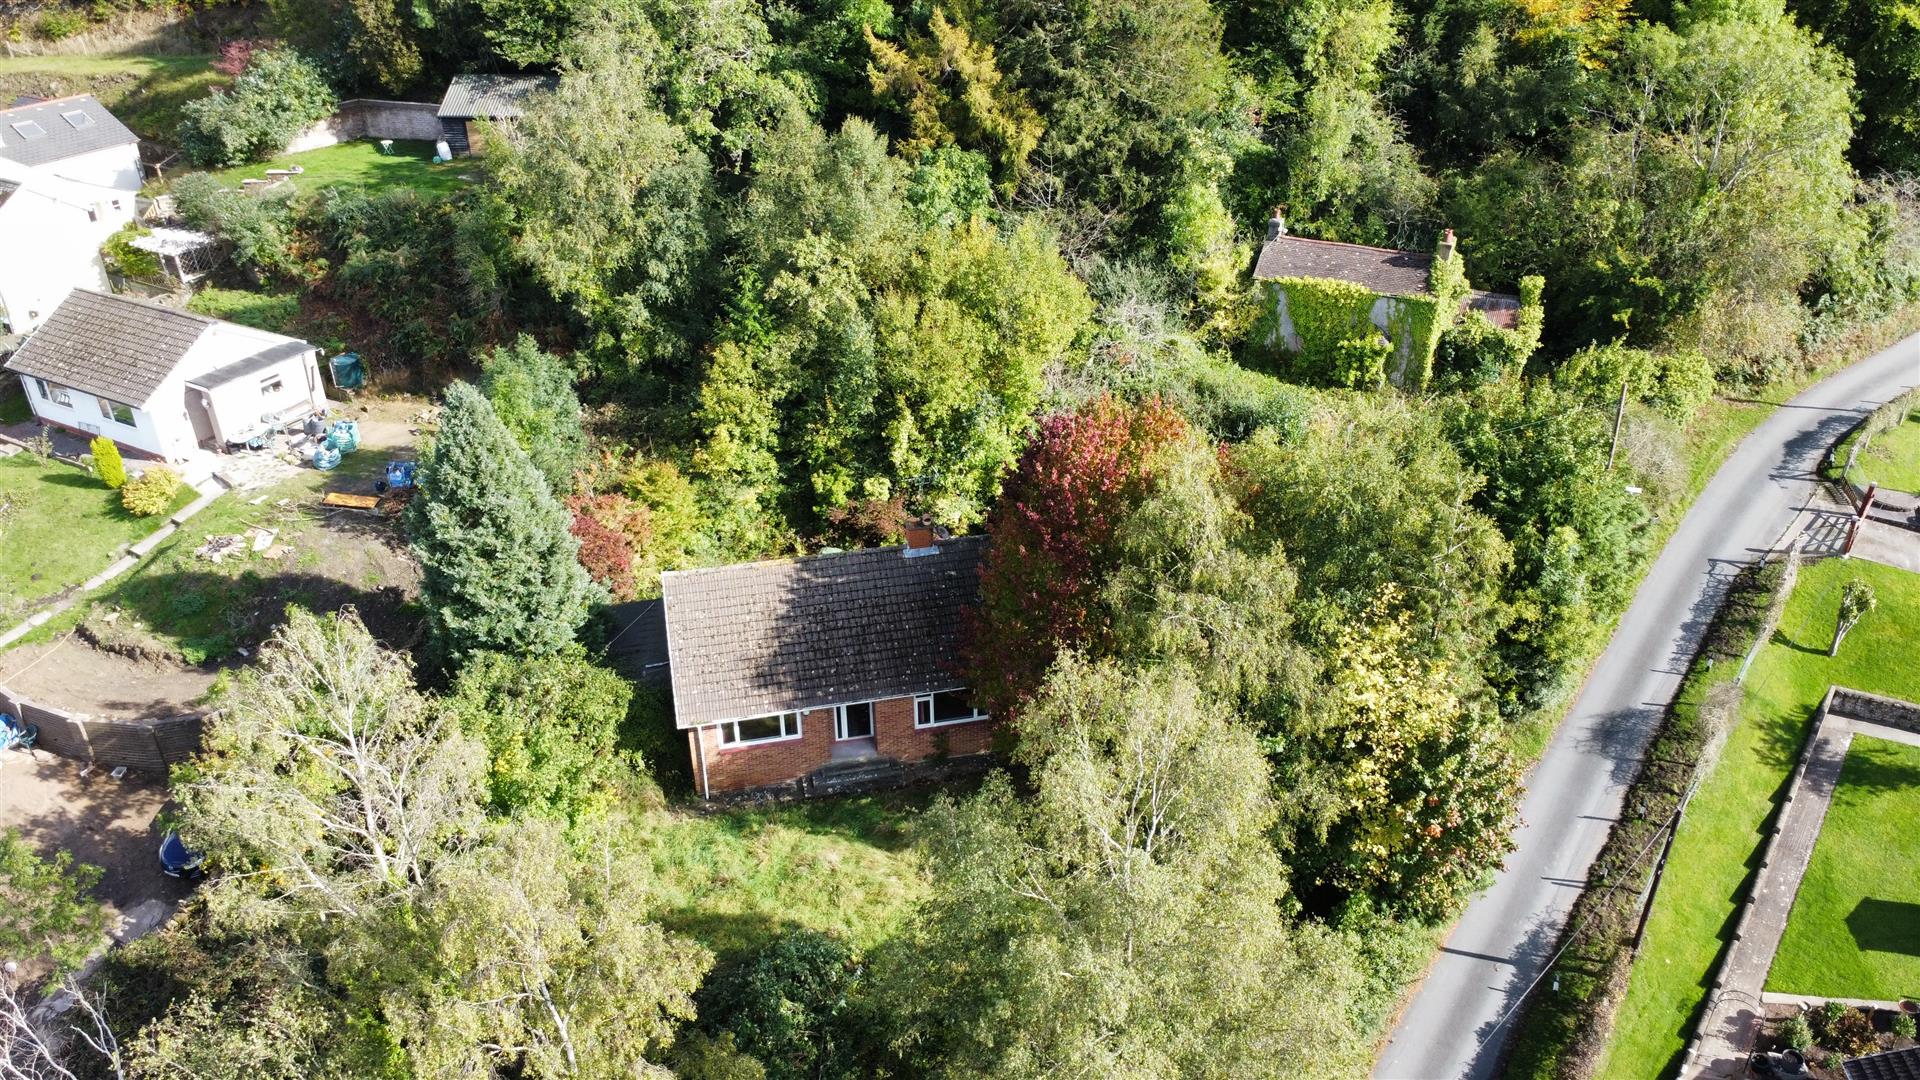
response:
M1916 869L1920 746L1855 736L1766 990L1920 997Z

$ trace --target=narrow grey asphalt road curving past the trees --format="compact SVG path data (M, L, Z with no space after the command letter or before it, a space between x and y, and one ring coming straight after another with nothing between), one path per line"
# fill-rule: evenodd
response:
M1377 1078L1496 1076L1513 1032L1509 1011L1559 945L1567 911L1732 575L1791 525L1826 446L1916 380L1920 336L1799 394L1715 473L1528 774L1519 847L1453 928L1380 1053Z

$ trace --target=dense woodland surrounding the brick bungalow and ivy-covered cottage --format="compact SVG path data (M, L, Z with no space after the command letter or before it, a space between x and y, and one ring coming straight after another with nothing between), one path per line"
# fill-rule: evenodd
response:
M261 17L182 127L204 161L336 96L561 81L455 194L175 184L445 411L428 644L292 613L225 688L175 776L223 872L98 978L125 1076L1359 1074L1684 509L1688 423L1920 290L1895 6ZM1463 319L1419 392L1315 386L1256 332L1275 206L1457 231L1475 286L1544 277L1538 344ZM632 813L684 746L595 607L912 515L993 536L970 665L1010 771L927 811L877 949L662 928Z

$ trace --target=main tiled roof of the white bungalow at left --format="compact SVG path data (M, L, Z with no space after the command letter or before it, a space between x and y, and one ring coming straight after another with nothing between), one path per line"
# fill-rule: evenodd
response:
M6 369L144 405L211 325L202 315L75 288Z

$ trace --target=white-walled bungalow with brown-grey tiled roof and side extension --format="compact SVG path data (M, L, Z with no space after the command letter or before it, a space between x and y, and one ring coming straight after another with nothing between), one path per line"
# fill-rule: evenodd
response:
M315 346L77 288L6 361L33 415L184 461L326 409Z

